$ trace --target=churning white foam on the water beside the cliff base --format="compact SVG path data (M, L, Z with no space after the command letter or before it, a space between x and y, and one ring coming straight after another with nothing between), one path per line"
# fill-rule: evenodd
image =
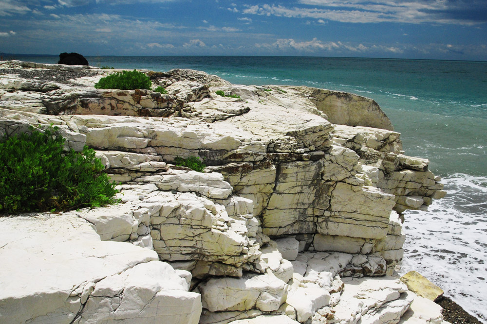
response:
M487 177L453 174L429 211L409 211L401 274L416 270L487 321Z

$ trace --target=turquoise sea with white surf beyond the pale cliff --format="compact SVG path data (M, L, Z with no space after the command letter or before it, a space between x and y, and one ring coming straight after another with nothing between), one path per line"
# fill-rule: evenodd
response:
M54 55L17 55L57 63ZM487 323L487 62L283 56L87 56L92 66L191 68L234 84L307 85L374 99L406 155L428 158L447 196L408 211L400 273L416 270Z

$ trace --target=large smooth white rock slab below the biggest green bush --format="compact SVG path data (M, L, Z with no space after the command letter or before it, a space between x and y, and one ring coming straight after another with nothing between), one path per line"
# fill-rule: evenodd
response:
M0 254L10 261L1 273L9 280L0 280L2 323L70 323L80 318L198 323L200 297L186 291L184 278L158 261L154 251L101 241L77 214L0 220ZM174 312L173 306L186 311Z

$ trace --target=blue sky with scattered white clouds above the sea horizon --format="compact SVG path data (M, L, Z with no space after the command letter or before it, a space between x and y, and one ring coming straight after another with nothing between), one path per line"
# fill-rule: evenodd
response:
M0 0L0 52L487 61L487 0Z

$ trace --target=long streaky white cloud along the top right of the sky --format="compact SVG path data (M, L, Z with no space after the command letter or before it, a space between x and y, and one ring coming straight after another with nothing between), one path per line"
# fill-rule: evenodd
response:
M463 1L460 1L463 2ZM462 17L460 12L469 6L459 6L451 0L300 0L306 6L247 5L244 14L277 17L298 17L333 20L351 23L402 22L402 23L441 23L472 25L479 19ZM481 2L473 0L472 3ZM310 8L309 6L315 6ZM455 15L458 11L458 15ZM463 14L465 16L465 13ZM487 18L484 18L484 22Z

